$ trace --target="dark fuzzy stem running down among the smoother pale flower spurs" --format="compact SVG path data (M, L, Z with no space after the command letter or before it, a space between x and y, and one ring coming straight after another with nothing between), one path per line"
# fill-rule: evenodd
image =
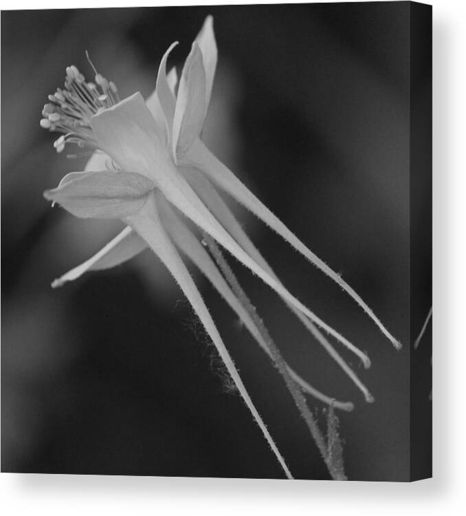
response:
M245 294L243 288L239 284L238 279L236 279L236 276L230 268L230 265L225 260L225 257L223 257L223 253L221 252L219 246L217 246L214 239L212 239L212 237L210 237L206 233L203 233L203 241L206 242L210 250L210 253L217 262L217 266L219 266L221 272L223 272L225 279L228 281L230 285L230 288L232 288L234 294L236 294L236 297L238 298L240 303L243 305L245 310L247 310L247 312L253 319L254 323L256 324L256 327L260 332L261 336L263 337L264 341L267 343L267 346L270 350L272 361L278 369L278 372L280 372L280 374L282 375L283 380L285 380L285 385L287 386L287 389L289 390L289 393L291 394L291 397L293 398L296 407L298 407L298 410L300 411L302 418L306 422L307 427L311 433L311 436L313 437L313 440L315 441L315 444L317 445L320 454L322 455L322 458L327 466L327 469L329 470L331 477L333 478L333 480L346 480L346 476L344 475L344 473L335 473L335 468L331 463L332 458L331 454L329 453L326 440L324 436L322 436L322 433L320 432L320 429L318 427L318 423L315 420L312 412L309 410L309 407L307 406L304 394L302 394L302 391L300 390L296 382L293 380L293 378L291 378L287 363L285 363L282 354L280 353L278 347L272 340L262 319L260 319L260 316L258 316L256 308L254 307L254 305L252 305L251 301Z

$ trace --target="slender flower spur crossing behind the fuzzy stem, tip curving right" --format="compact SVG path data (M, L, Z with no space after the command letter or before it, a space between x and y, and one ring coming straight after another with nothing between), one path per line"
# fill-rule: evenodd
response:
M164 228L168 231L171 239L175 243L175 245L184 252L184 254L201 270L203 275L207 277L207 279L212 283L214 288L217 289L217 292L225 299L225 301L230 305L230 308L234 310L239 319L243 322L247 330L254 337L260 347L271 357L271 352L267 343L264 341L263 337L260 335L254 321L251 316L247 313L247 311L243 308L243 305L238 301L234 293L232 292L230 286L225 281L223 276L221 275L219 268L215 265L214 261L210 257L209 253L206 249L201 245L201 242L192 230L188 228L188 226L179 219L176 215L173 208L164 200L164 198L160 199L157 203L159 208L160 217L162 219L162 223L164 224ZM327 405L333 405L342 410L351 411L353 410L353 403L351 402L341 402L337 401L334 398L326 396L322 394L322 392L315 389L305 380L303 380L291 367L287 365L287 369L291 378L298 383L301 389L314 396L318 400L326 403Z

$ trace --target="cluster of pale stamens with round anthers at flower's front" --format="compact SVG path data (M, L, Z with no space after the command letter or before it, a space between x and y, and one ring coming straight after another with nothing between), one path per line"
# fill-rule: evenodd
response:
M92 63L91 66L93 67ZM96 83L87 83L76 66L67 67L65 87L58 88L53 95L49 95L50 102L42 110L41 127L63 133L54 142L57 152L63 151L67 143L76 143L81 148L87 146L97 149L91 117L120 102L115 83L98 74L94 67L93 69L96 72Z

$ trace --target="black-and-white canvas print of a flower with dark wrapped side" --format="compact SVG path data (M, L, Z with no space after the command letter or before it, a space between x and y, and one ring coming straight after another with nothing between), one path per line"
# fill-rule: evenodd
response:
M1 469L431 475L432 12L1 13Z

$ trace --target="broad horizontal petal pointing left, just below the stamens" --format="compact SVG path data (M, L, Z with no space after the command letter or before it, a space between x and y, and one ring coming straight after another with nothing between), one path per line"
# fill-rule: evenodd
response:
M71 172L44 197L76 217L120 219L142 208L154 186L144 175L131 172Z

